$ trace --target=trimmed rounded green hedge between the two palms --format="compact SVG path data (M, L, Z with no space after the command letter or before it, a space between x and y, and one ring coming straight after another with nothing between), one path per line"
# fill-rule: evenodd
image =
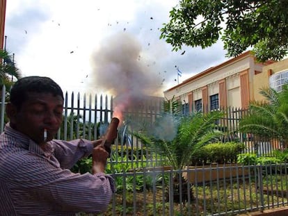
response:
M206 144L193 155L192 165L207 163L236 163L237 155L245 149L241 142L217 142Z

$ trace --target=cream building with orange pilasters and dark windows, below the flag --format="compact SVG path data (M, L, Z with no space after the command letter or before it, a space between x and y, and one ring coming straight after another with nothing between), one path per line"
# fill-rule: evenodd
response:
M184 113L191 113L192 110L207 112L225 107L248 108L249 101L256 99L255 92L258 92L262 83L259 81L255 85L255 77L264 74L263 67L269 67L272 63L274 61L258 63L253 53L246 51L186 79L166 90L164 96L168 100L174 97L181 101Z

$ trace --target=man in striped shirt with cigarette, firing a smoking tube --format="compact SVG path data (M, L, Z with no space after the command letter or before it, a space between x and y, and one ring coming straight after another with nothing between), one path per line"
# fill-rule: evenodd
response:
M104 174L101 140L53 140L63 118L63 92L51 78L20 78L0 135L0 215L75 215L106 210L115 191ZM93 154L93 174L70 168Z

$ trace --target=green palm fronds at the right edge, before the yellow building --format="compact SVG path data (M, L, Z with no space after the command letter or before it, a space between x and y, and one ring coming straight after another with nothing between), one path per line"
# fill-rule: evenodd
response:
M262 88L260 94L267 102L251 101L248 115L240 119L239 130L253 133L260 138L278 140L287 147L288 85L283 85L282 92L276 92L273 88Z

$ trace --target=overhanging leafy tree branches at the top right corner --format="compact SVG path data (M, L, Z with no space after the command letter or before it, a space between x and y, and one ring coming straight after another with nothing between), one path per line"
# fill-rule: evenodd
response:
M205 49L221 39L228 57L252 49L261 62L280 60L288 50L287 8L287 0L180 0L160 38L173 51Z

